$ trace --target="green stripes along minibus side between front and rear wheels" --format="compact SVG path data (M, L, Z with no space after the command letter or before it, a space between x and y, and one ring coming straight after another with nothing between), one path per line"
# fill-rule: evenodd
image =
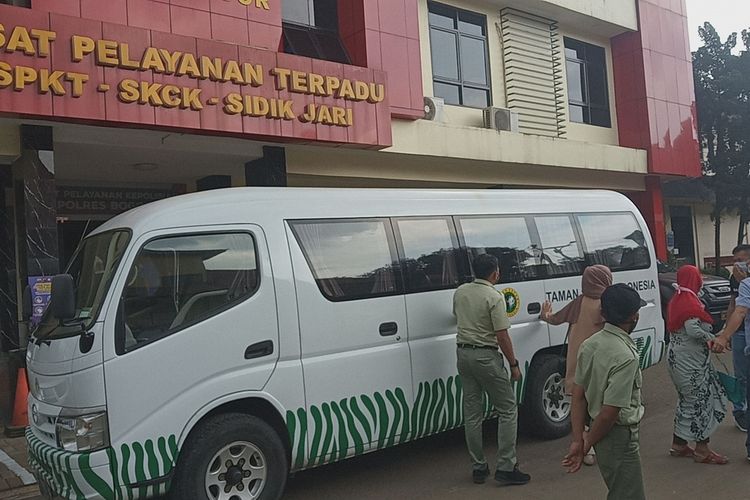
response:
M527 362L526 371L528 367ZM525 377L514 384L520 401ZM486 394L484 411L486 417L492 414ZM309 414L304 408L288 411L286 420L292 470L333 463L462 426L461 378L420 383L411 407L403 389L396 388L315 405Z

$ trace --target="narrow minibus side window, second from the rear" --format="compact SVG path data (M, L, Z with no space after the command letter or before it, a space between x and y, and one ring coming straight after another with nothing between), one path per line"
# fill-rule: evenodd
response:
M547 277L575 276L583 273L584 258L581 243L569 215L534 217L542 243L542 261Z

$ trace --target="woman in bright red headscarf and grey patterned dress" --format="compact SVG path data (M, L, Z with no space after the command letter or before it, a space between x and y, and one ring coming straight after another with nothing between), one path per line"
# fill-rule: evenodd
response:
M713 340L713 318L698 298L703 277L695 266L677 271L677 292L667 308L671 337L667 362L677 388L673 457L691 457L704 464L724 465L726 457L708 446L711 434L727 413L727 396L711 364L709 344ZM689 442L696 443L695 449Z

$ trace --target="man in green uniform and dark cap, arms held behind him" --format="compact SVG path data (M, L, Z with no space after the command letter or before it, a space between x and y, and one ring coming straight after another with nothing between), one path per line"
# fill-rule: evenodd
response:
M608 500L646 498L638 435L643 418L643 379L638 349L630 338L638 323L638 311L645 305L631 287L609 287L602 295L602 315L607 323L578 352L573 442L563 466L577 472L593 446L609 488ZM591 430L584 434L587 419L592 422Z

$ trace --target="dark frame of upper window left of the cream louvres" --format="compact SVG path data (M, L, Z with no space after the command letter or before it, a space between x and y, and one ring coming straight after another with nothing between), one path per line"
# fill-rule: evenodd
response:
M453 19L455 21L456 28L449 29L445 28L443 26L434 26L429 21L429 13L431 12L432 8L437 8L443 11L452 11L453 13ZM470 10L461 9L458 7L454 7L452 5L446 5L444 3L440 2L433 2L428 1L427 2L427 10L428 10L428 31L430 35L430 64L432 64L432 57L434 54L433 51L433 44L432 44L432 30L436 31L442 31L443 33L449 33L453 35L456 39L456 63L457 63L457 70L458 70L458 79L453 80L451 78L441 77L435 75L435 71L433 69L432 71L432 85L433 85L433 95L437 97L437 93L435 92L435 84L442 84L442 85L452 85L454 87L458 87L459 89L459 103L453 104L453 103L446 103L449 106L462 106L466 108L472 108L472 109L484 109L489 106L492 106L492 72L490 68L490 52L489 52L489 28L487 25L487 16L484 14L480 14L478 12L472 12ZM470 16L482 18L484 21L484 36L474 35L472 33L464 33L461 31L458 21L460 18L460 14L465 13ZM486 84L479 84L475 82L470 82L464 80L463 77L463 67L461 64L461 37L467 37L472 38L477 41L481 41L484 46L484 70L485 74L487 76L487 83ZM472 106L469 104L465 104L464 101L464 89L469 88L471 90L479 90L479 91L486 91L487 92L487 104L485 106Z

